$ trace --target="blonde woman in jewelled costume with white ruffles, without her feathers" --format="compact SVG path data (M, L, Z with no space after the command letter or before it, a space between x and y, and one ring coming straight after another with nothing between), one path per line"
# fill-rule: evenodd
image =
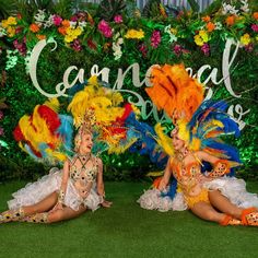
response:
M75 155L64 162L63 169L52 168L49 175L14 192L0 223L52 223L79 216L87 209L110 207L104 199L103 163L91 153L92 145L92 132L82 126L75 136Z

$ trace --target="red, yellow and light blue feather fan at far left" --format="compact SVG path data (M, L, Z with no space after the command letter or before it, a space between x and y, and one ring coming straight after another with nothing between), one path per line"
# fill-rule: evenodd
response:
M19 145L38 162L55 164L66 160L72 145L72 119L59 115L57 98L37 105L32 115L24 115L13 131Z

